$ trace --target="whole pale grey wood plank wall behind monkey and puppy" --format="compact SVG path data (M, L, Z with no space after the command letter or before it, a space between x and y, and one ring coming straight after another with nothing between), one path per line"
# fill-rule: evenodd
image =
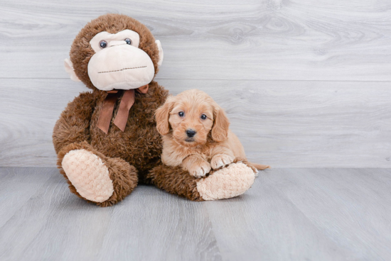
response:
M391 167L391 1L26 1L0 4L0 166L55 166L53 125L82 84L63 69L103 13L148 26L156 80L207 91L250 160Z

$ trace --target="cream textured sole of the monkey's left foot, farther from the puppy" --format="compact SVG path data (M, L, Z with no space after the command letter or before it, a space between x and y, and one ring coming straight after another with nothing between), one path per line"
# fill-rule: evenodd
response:
M103 202L112 196L114 187L109 169L102 159L88 150L71 150L61 163L65 174L85 199Z

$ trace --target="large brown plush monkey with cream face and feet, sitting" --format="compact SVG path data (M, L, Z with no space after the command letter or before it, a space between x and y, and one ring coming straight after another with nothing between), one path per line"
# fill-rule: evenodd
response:
M65 70L92 92L61 113L53 144L60 172L80 198L112 206L142 182L194 201L227 199L254 182L242 162L203 178L161 163L154 113L168 91L153 79L162 60L159 40L129 16L100 16L76 36Z

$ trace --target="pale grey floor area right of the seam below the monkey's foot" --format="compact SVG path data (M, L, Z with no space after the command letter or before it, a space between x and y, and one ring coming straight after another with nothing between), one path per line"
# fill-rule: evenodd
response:
M279 169L205 204L224 260L387 260L390 186L389 169Z

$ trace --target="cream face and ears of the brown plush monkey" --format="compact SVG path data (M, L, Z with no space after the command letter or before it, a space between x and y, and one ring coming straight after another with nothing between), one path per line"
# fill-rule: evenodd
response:
M95 51L88 62L88 76L92 84L102 91L112 89L137 89L154 79L155 69L151 57L139 48L140 36L133 30L118 33L97 33L90 40ZM159 40L159 62L163 60L163 50ZM65 60L65 70L71 79L78 80L70 60Z

